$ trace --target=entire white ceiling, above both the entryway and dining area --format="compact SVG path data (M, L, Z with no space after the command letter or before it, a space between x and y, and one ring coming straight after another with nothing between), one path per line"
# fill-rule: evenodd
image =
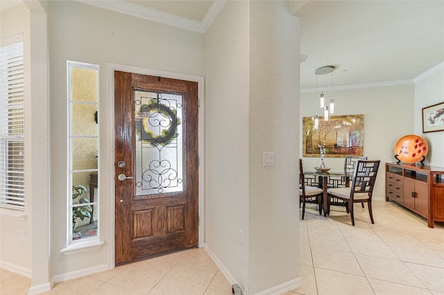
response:
M6 0L2 0L4 3ZM205 32L225 1L77 0ZM10 1L7 1L10 2ZM289 1L300 17L302 91L411 83L444 61L444 1ZM315 75L334 66L330 75ZM370 85L368 85L370 84Z

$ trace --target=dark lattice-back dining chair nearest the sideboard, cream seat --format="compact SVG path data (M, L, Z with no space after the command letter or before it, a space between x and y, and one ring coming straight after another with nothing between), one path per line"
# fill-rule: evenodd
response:
M352 175L352 185L350 187L327 189L327 197L341 199L345 202L347 213L350 213L353 226L355 226L355 215L353 212L353 205L355 203L367 203L370 220L372 224L375 223L372 213L372 194L379 162L379 160L357 161L355 172L353 172Z

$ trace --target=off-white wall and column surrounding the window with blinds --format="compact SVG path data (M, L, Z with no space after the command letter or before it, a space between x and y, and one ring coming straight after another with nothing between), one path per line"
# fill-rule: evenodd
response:
M49 2L28 1L1 12L1 37L24 36L26 220L1 215L1 267L49 287ZM3 210L2 210L3 211ZM24 239L20 240L19 231Z

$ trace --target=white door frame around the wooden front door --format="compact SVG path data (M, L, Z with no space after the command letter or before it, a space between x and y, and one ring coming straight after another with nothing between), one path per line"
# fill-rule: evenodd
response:
M101 172L106 175L108 179L108 269L112 269L115 266L115 183L114 183L114 71L125 71L128 73L139 73L143 75L153 75L163 78L173 78L178 80L187 80L192 82L198 82L198 97L199 97L199 109L198 109L198 155L199 155L199 168L198 168L198 213L199 213L199 226L198 226L198 247L204 247L205 241L205 104L204 104L204 78L196 75L186 75L182 73L173 73L167 71L159 71L155 69L145 69L137 66L126 66L123 64L108 63L108 144L104 145L108 147L108 169ZM105 157L103 157L105 159Z

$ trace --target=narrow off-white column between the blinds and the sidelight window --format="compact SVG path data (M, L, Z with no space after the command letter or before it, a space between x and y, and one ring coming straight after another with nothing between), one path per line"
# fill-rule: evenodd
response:
M32 226L32 278L31 289L49 288L53 274L52 257L49 253L51 200L49 175L49 44L51 33L51 8L49 1L27 1L30 10L30 38L31 69L26 72L31 80L31 106L26 114L28 127L25 129L25 141L29 141L31 166L26 169L31 172L31 226ZM26 111L25 111L26 112ZM26 185L28 185L26 184Z

